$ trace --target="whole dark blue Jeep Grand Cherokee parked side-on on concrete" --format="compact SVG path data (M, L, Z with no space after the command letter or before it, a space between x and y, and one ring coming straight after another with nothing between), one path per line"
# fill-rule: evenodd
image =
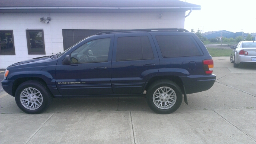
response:
M46 110L52 98L138 97L169 114L186 94L212 87L213 60L200 39L184 29L101 32L66 51L10 65L3 89L29 114Z

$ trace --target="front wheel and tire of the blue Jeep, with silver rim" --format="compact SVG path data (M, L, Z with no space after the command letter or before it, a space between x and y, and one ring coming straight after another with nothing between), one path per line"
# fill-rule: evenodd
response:
M52 94L44 83L31 80L22 83L16 89L15 101L23 112L39 114L49 107L52 102Z

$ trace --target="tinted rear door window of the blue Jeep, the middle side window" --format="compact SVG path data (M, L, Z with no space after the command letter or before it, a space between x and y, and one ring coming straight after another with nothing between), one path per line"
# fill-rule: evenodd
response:
M118 37L116 61L153 58L152 47L147 36Z

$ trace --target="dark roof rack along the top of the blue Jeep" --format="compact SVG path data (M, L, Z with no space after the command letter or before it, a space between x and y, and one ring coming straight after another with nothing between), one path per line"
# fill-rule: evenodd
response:
M188 32L188 30L184 28L156 28L156 29L135 29L135 30L112 30L112 31L99 32L95 35L112 34L112 33L119 33L119 32L158 32L158 31Z

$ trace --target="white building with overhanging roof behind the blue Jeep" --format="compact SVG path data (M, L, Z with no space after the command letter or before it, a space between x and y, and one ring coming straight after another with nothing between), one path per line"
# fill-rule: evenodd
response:
M0 69L104 30L184 28L185 12L200 8L178 0L0 0Z

